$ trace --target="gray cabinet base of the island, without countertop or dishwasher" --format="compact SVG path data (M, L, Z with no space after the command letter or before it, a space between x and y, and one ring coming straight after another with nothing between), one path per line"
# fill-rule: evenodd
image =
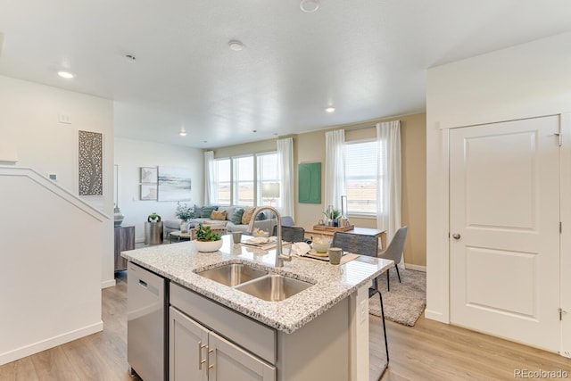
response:
M351 379L349 298L293 334L247 318L173 282L169 298L170 381ZM205 364L211 367L208 372ZM201 377L193 373L196 369Z

